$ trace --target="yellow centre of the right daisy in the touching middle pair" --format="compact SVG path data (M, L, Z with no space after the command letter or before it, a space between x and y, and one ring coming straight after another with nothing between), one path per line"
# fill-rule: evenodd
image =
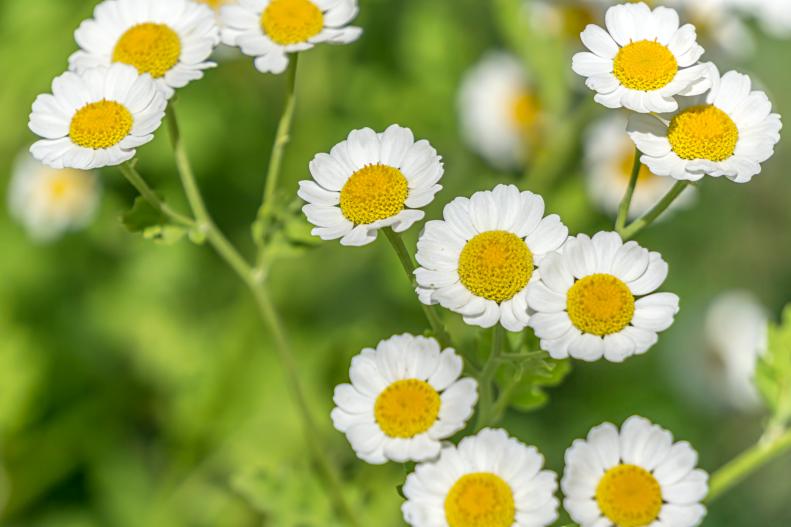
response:
M629 287L610 274L592 274L569 289L566 309L572 324L584 333L618 333L632 321L634 296Z

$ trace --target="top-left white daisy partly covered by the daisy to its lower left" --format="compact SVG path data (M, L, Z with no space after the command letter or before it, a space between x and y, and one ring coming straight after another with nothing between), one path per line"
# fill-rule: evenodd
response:
M129 64L170 98L215 66L207 59L220 29L211 9L190 0L105 0L74 38L81 49L69 57L72 70Z

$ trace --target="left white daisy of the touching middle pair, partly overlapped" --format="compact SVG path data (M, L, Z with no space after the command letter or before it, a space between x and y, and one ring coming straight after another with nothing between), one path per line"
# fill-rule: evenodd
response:
M460 313L467 324L524 329L534 265L568 237L560 217L544 217L541 196L497 185L454 199L443 218L426 223L418 240L420 301Z

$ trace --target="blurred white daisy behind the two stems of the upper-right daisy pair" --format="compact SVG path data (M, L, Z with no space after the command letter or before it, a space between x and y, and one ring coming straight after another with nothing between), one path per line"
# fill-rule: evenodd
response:
M632 175L635 148L626 135L627 118L608 114L591 125L585 134L585 174L588 192L602 211L615 215ZM632 196L629 218L636 218L653 207L673 186L673 180L654 175L642 165ZM688 205L695 189L688 187L671 208Z

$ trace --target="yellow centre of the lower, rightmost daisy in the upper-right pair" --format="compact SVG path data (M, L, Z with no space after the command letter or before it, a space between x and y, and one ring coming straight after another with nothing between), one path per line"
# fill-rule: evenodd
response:
M667 138L681 159L724 161L736 151L739 129L728 114L716 106L703 104L673 117Z

